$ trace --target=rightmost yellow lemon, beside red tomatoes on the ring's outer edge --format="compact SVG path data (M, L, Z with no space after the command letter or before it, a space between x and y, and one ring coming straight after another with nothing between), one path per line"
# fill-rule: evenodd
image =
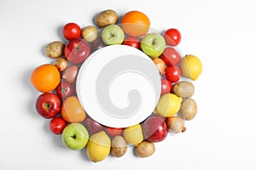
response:
M203 69L201 60L192 54L184 56L181 59L180 66L183 77L190 78L194 81L201 75Z

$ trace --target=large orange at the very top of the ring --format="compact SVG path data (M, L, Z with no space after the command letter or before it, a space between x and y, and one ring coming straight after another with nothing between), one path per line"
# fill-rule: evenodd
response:
M121 18L121 27L131 37L140 37L148 32L150 20L140 11L130 11Z

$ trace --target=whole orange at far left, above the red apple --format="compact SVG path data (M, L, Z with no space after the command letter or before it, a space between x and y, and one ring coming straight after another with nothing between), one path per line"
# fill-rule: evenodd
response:
M30 77L32 85L39 92L53 91L61 81L61 74L55 65L39 65L32 71Z

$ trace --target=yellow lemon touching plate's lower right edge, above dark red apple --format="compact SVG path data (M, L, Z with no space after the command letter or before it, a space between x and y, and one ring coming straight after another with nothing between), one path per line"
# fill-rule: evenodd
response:
M160 97L154 113L164 117L173 116L179 111L182 100L175 94L164 94Z

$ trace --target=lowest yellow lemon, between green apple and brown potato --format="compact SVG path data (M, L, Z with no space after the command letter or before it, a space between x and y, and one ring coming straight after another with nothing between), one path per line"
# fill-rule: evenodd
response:
M86 153L90 161L102 161L109 155L110 148L111 140L108 134L101 131L90 136Z

